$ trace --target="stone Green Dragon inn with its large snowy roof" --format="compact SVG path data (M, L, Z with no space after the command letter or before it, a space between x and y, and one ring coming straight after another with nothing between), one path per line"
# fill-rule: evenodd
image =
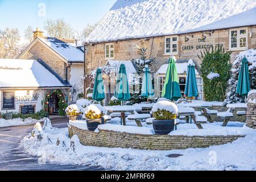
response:
M147 58L156 59L151 67L154 73L171 55L181 63L192 59L200 68L197 55L216 45L231 51L234 60L241 51L256 48L256 1L228 3L118 0L86 38L85 73L108 60L138 59L137 45L142 41L148 47ZM161 79L157 75L155 79L156 93L160 93Z

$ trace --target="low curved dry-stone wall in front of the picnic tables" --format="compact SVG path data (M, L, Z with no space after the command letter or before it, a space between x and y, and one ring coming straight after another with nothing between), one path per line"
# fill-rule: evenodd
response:
M184 150L207 148L233 142L244 136L185 137L171 135L142 135L100 130L98 133L69 127L69 137L77 135L85 146L134 148L139 150Z

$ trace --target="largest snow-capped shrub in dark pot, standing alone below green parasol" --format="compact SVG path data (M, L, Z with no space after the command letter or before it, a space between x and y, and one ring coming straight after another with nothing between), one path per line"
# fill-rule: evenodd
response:
M174 131L177 111L177 106L170 101L160 101L153 106L152 113L155 119L152 122L156 135L167 135Z

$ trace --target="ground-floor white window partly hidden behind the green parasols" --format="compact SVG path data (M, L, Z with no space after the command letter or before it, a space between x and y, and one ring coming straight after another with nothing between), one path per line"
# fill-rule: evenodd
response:
M184 92L185 92L186 79L187 79L186 76L179 76L180 92L181 92L182 96L184 96ZM165 80L166 80L165 76L160 76L158 79L158 97L162 97L163 86L164 86ZM198 92L199 92L199 97L197 98L197 100L203 100L203 78L196 77L196 82L197 82L197 88L198 88Z

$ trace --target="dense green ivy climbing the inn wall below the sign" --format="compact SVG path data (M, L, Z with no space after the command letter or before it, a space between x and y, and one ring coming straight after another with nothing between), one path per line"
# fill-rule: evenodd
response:
M225 52L221 46L215 49L204 49L199 55L201 59L201 77L204 80L204 96L207 101L224 101L225 92L230 78L230 52ZM210 78L210 74L218 77Z

